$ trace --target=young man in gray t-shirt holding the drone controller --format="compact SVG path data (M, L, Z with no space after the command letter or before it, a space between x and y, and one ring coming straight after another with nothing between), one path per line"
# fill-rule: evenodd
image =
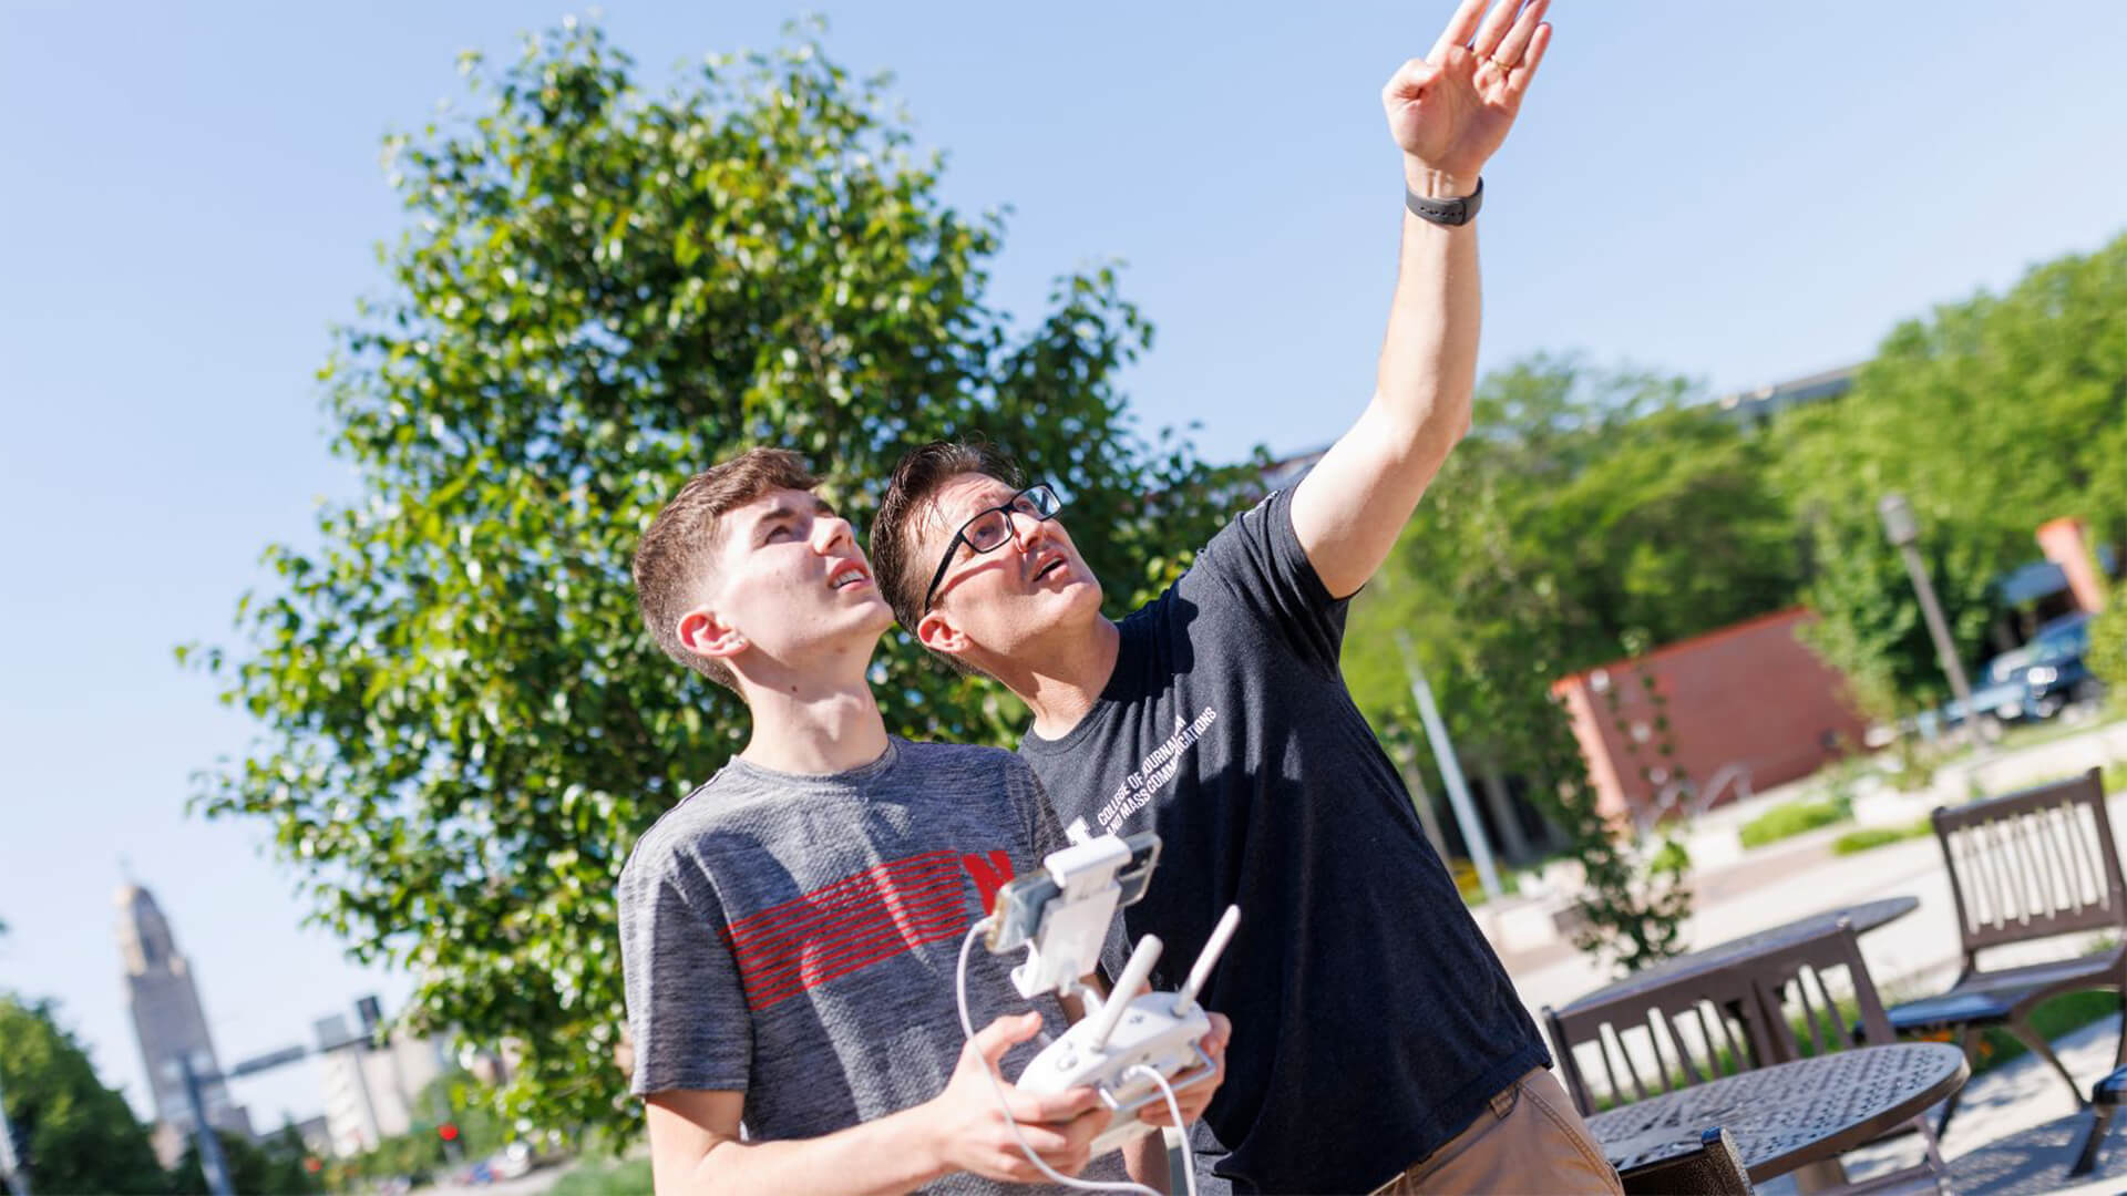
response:
M621 873L621 960L659 1192L991 1192L1040 1181L983 1070L1017 1075L1076 1011L1010 990L970 926L1064 847L1008 751L887 736L866 683L891 613L849 524L793 453L691 479L636 553L642 615L674 660L732 687L753 734L642 836ZM1225 1019L1208 1047L1223 1058ZM1210 1087L1183 1092L1193 1119ZM1004 1085L1064 1175L1108 1113L1091 1090ZM1144 1122L1166 1124L1163 1109ZM1163 1177L1157 1134L1129 1173Z

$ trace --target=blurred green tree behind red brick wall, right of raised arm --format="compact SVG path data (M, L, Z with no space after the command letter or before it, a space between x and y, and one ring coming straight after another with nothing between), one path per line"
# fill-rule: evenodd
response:
M1682 379L1572 358L1487 375L1470 436L1355 619L1485 653L1540 636L1563 675L1793 602L1799 560L1768 443L1691 398ZM1476 572L1510 604L1459 598ZM1374 715L1402 700L1389 653L1346 675Z

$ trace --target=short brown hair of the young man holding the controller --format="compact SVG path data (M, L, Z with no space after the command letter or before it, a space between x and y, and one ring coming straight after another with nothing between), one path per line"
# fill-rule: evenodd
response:
M738 677L721 660L710 660L679 643L679 619L715 579L723 515L770 489L813 489L819 479L804 458L789 449L747 449L687 479L672 502L651 519L636 545L636 607L657 647L672 660L738 694Z

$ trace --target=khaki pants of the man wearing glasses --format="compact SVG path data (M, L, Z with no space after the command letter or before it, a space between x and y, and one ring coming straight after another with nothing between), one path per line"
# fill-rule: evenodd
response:
M1448 1145L1376 1187L1376 1196L1417 1192L1625 1196L1602 1145L1565 1096L1565 1085L1546 1068L1517 1079Z

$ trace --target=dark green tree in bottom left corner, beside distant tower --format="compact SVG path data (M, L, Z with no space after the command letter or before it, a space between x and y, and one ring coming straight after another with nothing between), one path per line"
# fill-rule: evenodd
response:
M147 1128L96 1079L51 1002L0 994L0 1077L6 1115L30 1145L36 1192L164 1192Z

